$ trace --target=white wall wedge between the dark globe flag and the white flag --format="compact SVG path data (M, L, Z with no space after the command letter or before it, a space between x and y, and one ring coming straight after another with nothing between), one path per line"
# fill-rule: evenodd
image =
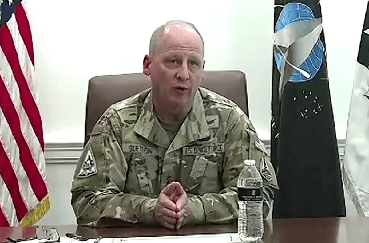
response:
M368 1L321 0L320 2L337 138L344 139Z

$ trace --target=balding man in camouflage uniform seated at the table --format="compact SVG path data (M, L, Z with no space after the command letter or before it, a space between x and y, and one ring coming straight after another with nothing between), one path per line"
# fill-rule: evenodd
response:
M203 57L193 24L156 29L143 67L152 88L108 108L78 161L72 206L79 224L179 229L234 222L245 159L256 160L262 173L268 214L277 189L273 167L241 109L199 88Z

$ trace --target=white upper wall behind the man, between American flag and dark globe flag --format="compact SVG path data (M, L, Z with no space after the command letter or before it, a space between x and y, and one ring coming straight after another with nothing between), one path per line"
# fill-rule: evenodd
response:
M28 2L45 142L82 142L87 81L141 72L152 32L172 19L197 25L206 69L246 72L251 118L269 137L272 0L103 2Z

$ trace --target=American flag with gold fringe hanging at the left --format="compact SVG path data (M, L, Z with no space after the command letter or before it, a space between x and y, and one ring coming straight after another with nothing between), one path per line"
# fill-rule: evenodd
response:
M0 227L32 225L49 209L25 4L0 0Z

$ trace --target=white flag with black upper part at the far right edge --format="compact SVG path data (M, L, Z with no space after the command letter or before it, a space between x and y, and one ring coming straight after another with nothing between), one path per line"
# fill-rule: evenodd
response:
M356 211L369 216L369 4L356 64L346 132L343 180Z

